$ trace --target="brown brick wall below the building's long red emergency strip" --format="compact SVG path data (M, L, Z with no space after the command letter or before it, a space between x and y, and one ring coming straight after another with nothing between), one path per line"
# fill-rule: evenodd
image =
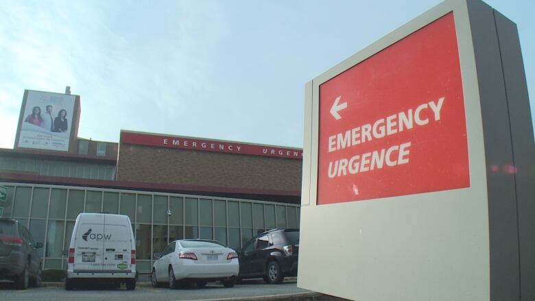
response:
M121 143L117 180L301 190L302 160Z

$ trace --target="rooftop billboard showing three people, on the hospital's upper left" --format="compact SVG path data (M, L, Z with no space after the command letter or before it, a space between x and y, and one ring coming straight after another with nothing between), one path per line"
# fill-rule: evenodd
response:
M67 152L74 111L75 95L27 91L16 147Z

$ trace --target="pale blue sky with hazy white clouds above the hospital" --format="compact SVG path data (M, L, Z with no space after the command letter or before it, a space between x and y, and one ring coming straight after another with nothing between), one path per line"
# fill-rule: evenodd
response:
M534 1L486 2L519 27L533 98ZM302 147L305 83L438 3L0 0L0 147L13 147L25 88L65 86L81 95L83 138Z

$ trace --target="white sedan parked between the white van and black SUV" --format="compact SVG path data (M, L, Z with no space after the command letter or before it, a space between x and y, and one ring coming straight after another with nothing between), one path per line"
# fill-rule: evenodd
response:
M169 243L152 265L154 287L161 282L176 289L178 281L190 280L204 287L206 282L220 280L224 287L233 287L239 272L238 254L218 241L181 239Z

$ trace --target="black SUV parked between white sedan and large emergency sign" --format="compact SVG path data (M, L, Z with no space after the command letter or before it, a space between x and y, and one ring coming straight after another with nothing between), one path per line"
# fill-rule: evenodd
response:
M238 254L239 278L263 277L281 283L285 276L297 275L299 230L274 229L257 235Z

